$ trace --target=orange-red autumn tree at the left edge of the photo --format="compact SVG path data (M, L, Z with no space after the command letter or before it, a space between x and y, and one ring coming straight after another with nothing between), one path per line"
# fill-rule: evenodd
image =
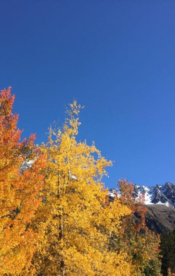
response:
M13 102L10 87L0 92L0 275L25 275L31 265L38 236L30 223L43 186L44 159L35 150L35 135L20 142Z

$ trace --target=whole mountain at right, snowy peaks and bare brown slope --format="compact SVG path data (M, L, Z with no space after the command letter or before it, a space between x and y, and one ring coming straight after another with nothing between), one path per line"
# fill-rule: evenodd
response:
M116 188L109 190L110 200L114 200ZM175 184L166 182L164 185L152 187L134 185L133 197L144 194L147 212L145 220L147 227L157 233L171 231L175 228ZM135 214L138 219L137 214Z

